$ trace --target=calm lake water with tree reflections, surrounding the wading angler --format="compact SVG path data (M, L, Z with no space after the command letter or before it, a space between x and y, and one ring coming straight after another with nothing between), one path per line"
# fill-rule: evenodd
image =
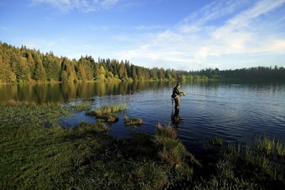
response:
M47 85L0 85L0 101L63 105L88 103L101 105L126 103L129 109L118 114L119 121L109 125L109 134L127 137L131 131L154 134L156 124L171 124L178 138L193 154L211 154L209 140L215 136L227 142L252 144L264 135L285 140L285 83L182 83L180 119L173 120L171 93L175 83L76 83ZM126 127L123 115L142 118L136 129ZM82 120L95 118L80 112L61 120L74 127Z

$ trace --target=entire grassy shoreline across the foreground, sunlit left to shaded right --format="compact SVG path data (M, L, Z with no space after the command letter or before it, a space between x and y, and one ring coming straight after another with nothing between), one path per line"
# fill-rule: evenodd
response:
M176 138L156 134L114 138L105 123L63 128L58 118L88 107L13 103L0 106L3 189L282 189L284 142L257 138L255 147L228 145L209 176ZM108 112L109 113L109 112ZM222 146L222 139L215 144ZM213 142L214 144L214 142ZM224 146L224 145L223 145ZM279 152L279 156L277 155ZM195 178L193 177L195 176Z

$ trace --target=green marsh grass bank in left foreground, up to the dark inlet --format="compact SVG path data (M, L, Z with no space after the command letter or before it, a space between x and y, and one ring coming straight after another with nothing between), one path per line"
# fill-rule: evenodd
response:
M3 189L167 189L191 177L190 154L178 140L158 149L154 136L143 133L113 138L100 120L63 128L57 119L70 111L60 105L0 109ZM162 149L182 154L176 165L162 161Z

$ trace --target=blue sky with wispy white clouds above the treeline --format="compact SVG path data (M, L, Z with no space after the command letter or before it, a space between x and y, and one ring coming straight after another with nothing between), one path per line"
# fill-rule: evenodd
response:
M0 0L0 41L79 59L285 67L285 0Z

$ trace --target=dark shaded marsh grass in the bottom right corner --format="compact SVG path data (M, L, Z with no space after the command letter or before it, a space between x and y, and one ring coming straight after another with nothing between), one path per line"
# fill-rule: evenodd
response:
M194 189L284 189L284 158L276 157L275 149L275 140L266 136L255 138L253 147L230 144L215 165L215 175Z

